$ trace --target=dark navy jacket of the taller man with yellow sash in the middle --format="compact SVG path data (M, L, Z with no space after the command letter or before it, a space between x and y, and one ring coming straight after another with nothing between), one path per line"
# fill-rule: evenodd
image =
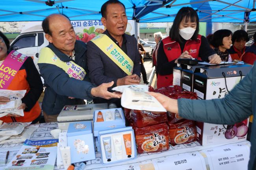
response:
M106 35L109 36L108 32ZM137 40L131 35L124 34L124 36L127 41L127 55L134 62L133 74L137 74L140 77L141 66L139 65L140 54L137 47ZM114 81L113 87L116 87L117 79L127 76L120 67L91 41L87 42L87 63L90 71L90 79L96 85Z

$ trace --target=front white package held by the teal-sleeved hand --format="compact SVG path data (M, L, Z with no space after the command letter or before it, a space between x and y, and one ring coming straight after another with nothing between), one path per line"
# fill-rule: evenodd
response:
M127 109L166 112L166 109L156 98L145 91L130 88L124 89L121 105Z

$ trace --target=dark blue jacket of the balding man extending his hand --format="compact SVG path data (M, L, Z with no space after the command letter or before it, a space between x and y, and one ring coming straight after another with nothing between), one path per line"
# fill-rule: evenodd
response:
M72 61L67 55L58 50L53 44L47 46L61 61ZM89 71L86 61L86 44L82 41L76 41L75 63L81 66L87 73L83 81L70 78L69 75L56 65L39 63L41 76L45 79L46 89L45 97L42 103L42 109L47 115L58 115L65 105L82 104L83 99L91 100L91 89L95 87L90 82ZM40 57L49 57L41 56ZM69 99L68 97L76 99Z

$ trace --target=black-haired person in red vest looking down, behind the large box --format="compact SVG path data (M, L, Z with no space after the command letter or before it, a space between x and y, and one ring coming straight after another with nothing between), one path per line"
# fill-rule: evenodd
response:
M228 49L228 52L232 60L239 60L249 47L245 46L245 43L249 41L248 33L244 30L237 30L232 36L232 46Z

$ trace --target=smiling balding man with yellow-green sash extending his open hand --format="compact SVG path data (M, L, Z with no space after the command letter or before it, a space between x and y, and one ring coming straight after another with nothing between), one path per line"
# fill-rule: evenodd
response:
M83 104L93 97L120 98L108 92L113 82L96 87L90 82L86 62L86 44L76 40L70 20L59 14L49 15L42 23L49 45L40 52L38 66L45 79L42 103L46 122L57 121L65 105Z

